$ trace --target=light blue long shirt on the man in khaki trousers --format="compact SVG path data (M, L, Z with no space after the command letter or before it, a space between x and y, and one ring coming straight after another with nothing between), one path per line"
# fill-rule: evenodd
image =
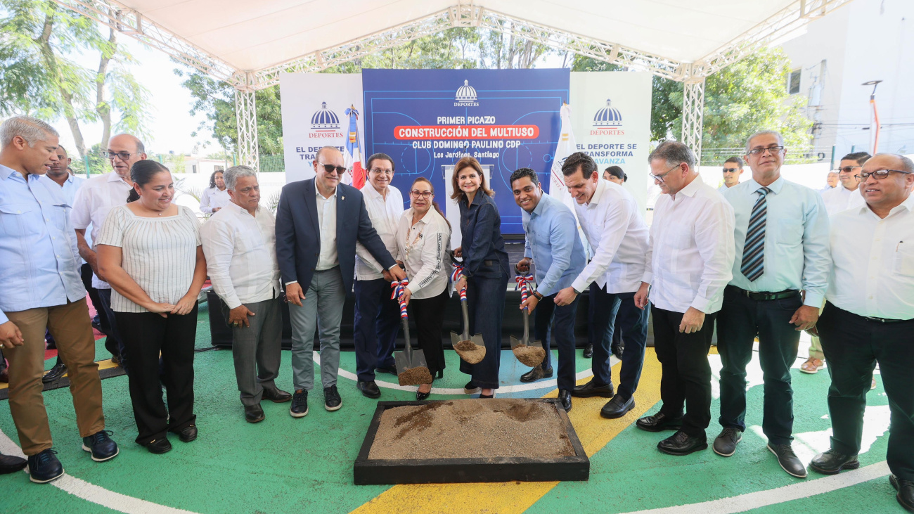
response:
M86 296L70 206L57 184L0 165L0 323L5 312Z

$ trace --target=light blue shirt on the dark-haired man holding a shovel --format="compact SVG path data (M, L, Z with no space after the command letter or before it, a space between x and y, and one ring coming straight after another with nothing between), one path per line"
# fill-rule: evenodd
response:
M571 209L546 193L533 212L521 209L524 256L536 263L537 291L549 296L569 287L587 262Z

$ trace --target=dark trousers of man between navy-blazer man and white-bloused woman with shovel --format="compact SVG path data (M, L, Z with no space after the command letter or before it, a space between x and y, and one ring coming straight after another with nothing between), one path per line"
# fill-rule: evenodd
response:
M393 289L383 278L356 280L356 344L358 380L375 380L376 368L393 368L394 344L400 326L399 303L391 299Z

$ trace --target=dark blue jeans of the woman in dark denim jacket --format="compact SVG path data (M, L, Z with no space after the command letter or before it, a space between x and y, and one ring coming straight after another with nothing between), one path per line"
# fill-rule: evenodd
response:
M477 364L460 361L460 370L484 389L498 389L498 367L502 360L502 314L505 312L508 275L501 278L472 276L466 280L466 306L470 335L482 334L485 358Z

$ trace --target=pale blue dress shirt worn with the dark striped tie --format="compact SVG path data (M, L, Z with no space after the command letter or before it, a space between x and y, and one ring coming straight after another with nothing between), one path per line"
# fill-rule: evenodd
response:
M749 179L721 192L733 206L737 256L730 285L753 292L777 293L788 289L806 292L803 305L822 306L832 258L828 242L828 214L819 193L779 177L771 183L765 223L765 273L755 282L739 270L752 206L761 186Z

